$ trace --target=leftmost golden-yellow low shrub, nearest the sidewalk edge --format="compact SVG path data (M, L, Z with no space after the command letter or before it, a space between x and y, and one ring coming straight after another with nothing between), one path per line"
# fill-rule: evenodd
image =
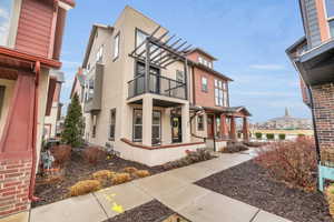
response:
M101 189L101 183L98 180L79 181L70 188L70 195L84 195Z

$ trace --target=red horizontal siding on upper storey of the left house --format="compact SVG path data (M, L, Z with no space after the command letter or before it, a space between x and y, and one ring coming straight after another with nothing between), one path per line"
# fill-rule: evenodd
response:
M48 57L53 7L38 0L22 0L16 49Z

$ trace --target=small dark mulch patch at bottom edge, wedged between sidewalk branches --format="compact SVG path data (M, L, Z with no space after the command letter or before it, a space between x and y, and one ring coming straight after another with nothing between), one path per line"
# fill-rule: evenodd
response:
M159 201L153 200L105 222L164 222L173 214L175 214L173 210Z

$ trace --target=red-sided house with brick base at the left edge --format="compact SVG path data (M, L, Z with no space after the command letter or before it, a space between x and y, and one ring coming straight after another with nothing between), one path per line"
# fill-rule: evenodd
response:
M28 211L71 0L1 0L0 218ZM1 219L0 219L1 220ZM19 221L12 219L12 221Z

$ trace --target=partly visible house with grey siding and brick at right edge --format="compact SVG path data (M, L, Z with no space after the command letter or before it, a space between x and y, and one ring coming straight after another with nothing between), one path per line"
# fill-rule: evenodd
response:
M321 149L334 148L334 1L299 0L299 6L305 37L286 52L312 109L320 158Z

